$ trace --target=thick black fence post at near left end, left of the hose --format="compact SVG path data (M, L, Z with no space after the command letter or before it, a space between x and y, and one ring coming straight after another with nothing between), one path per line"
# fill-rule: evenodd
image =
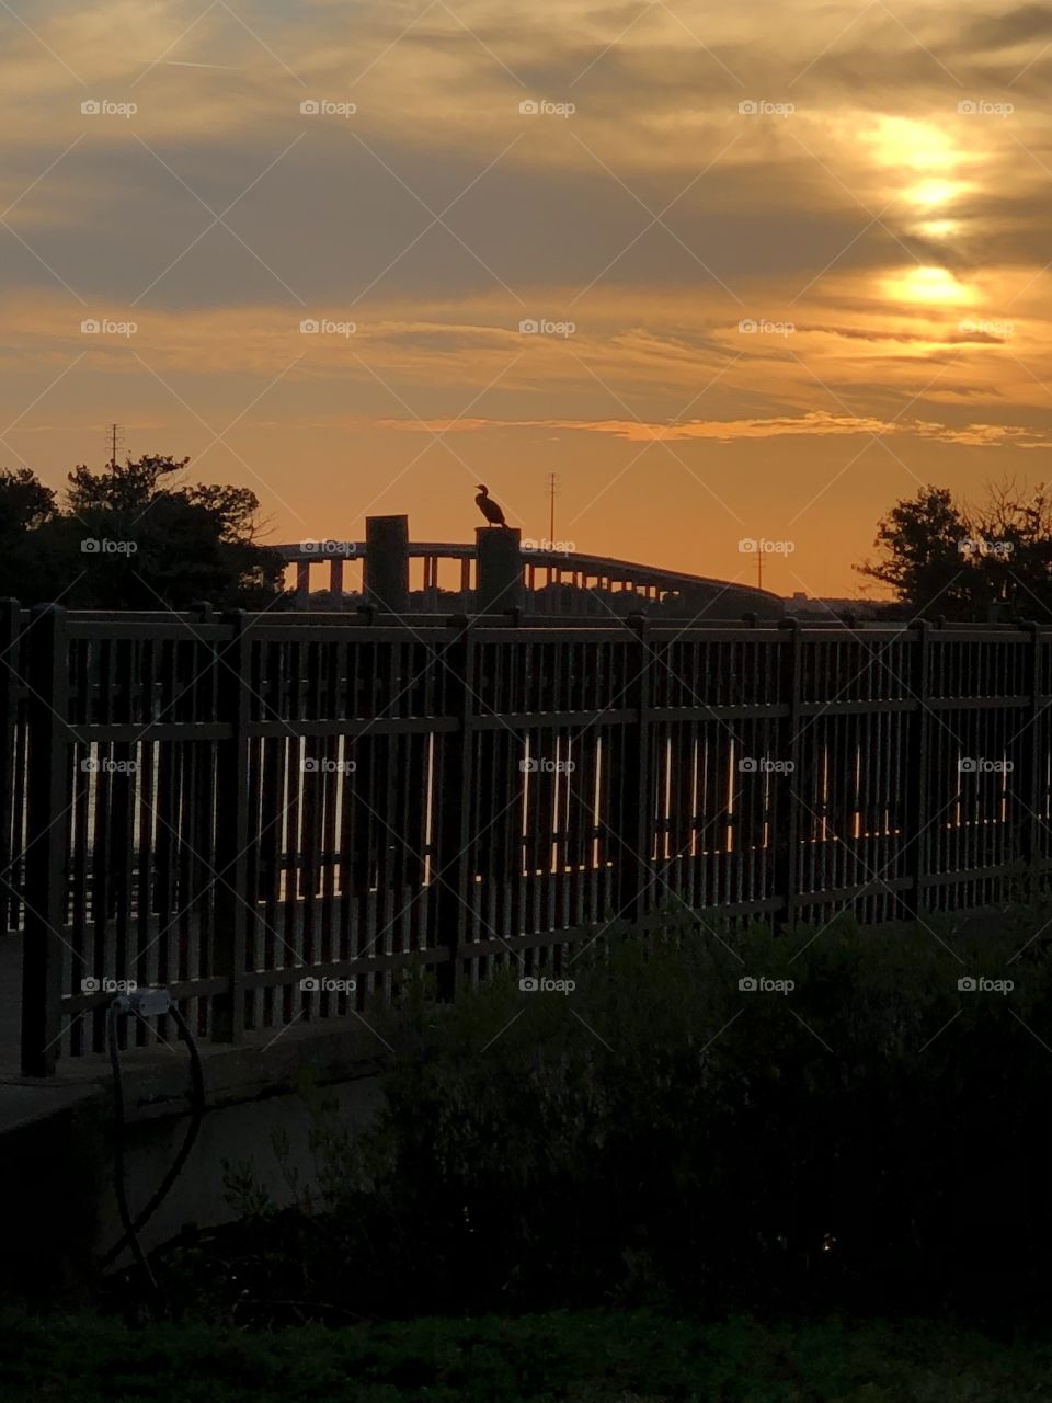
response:
M66 923L69 664L66 610L39 605L25 634L27 828L22 939L22 1075L55 1070L62 1030Z

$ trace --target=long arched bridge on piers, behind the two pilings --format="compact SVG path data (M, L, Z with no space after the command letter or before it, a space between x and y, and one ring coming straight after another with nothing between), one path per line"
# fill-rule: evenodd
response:
M391 613L506 612L518 605L529 615L609 615L613 600L603 595L627 595L634 607L659 606L666 616L676 602L685 613L713 619L784 612L781 598L766 589L561 546L490 526L478 528L474 543L411 542L407 516L373 516L365 540L303 540L271 549L296 570L299 609L310 606L314 570L324 584L313 588L327 589L332 602L360 592Z

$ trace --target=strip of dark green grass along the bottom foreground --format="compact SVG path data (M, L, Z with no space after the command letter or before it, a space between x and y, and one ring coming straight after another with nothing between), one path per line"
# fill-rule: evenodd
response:
M247 1333L0 1316L0 1399L62 1403L1016 1403L1052 1337L952 1324L670 1320L645 1310Z

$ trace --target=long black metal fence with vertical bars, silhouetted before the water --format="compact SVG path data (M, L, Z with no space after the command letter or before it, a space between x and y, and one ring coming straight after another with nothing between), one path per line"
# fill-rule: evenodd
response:
M234 1041L410 965L565 971L612 922L881 922L1049 866L1037 627L0 627L28 1075L102 1048L105 981Z

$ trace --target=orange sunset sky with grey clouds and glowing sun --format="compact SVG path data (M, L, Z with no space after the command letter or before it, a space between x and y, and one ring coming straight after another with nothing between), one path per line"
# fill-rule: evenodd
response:
M60 487L118 421L271 542L470 540L480 481L541 536L554 471L578 550L755 582L763 536L814 595L924 483L1052 477L1052 8L0 0L0 466Z

